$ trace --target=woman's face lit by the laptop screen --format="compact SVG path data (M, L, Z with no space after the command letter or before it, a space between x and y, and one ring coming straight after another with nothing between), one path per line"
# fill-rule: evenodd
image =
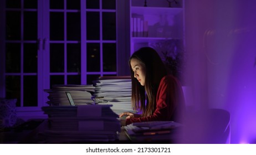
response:
M138 59L132 58L130 61L131 69L134 71L134 77L142 86L145 85L146 68Z

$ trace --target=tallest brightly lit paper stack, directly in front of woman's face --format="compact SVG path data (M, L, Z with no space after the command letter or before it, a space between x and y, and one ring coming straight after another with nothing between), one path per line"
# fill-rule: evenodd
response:
M93 81L95 86L94 101L96 104L113 105L111 109L120 114L133 111L131 106L131 77L105 76Z

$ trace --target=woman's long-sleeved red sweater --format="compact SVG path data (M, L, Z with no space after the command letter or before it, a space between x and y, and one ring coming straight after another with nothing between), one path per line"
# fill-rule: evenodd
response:
M180 82L172 75L162 77L156 95L156 110L153 115L139 118L127 118L126 125L145 121L181 122L185 108L185 99Z

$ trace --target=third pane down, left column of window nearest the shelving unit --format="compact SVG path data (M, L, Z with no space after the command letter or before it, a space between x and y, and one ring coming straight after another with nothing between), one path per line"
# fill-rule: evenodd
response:
M87 71L100 71L100 44L87 44Z

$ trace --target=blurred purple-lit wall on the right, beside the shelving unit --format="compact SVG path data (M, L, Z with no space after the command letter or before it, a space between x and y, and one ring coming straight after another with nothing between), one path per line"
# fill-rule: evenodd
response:
M196 107L231 113L231 143L256 142L256 1L185 2L186 81Z

